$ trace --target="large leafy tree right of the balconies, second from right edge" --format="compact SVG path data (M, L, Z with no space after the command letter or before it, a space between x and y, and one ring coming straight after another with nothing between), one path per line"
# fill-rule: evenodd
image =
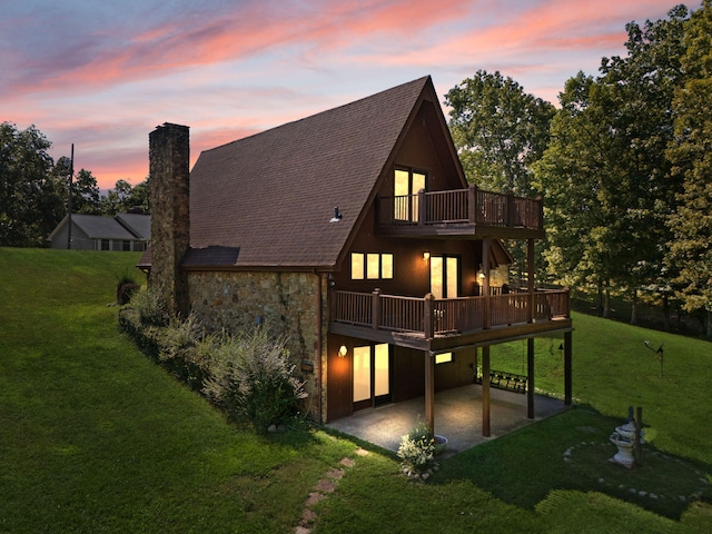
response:
M684 79L688 14L679 6L668 20L627 24L627 57L603 58L595 80L580 73L567 82L537 167L548 212L555 212L550 259L573 263L574 275L595 280L600 290L612 283L627 288L631 323L640 289L661 288L666 276L665 221L680 180L671 176L665 147L674 90ZM561 259L561 250L572 257Z

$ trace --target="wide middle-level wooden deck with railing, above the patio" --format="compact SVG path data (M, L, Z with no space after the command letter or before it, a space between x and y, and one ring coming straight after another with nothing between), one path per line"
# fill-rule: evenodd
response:
M445 350L571 329L568 289L435 299L334 291L329 332Z

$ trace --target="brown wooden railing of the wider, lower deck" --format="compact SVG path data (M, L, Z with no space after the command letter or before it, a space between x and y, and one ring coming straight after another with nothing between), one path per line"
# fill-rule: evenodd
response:
M332 312L335 323L426 337L561 317L568 317L568 289L444 299L334 291Z

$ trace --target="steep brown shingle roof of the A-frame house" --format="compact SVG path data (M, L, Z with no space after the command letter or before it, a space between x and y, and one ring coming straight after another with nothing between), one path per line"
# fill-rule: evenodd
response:
M191 247L239 248L238 267L334 266L424 93L429 77L204 151Z

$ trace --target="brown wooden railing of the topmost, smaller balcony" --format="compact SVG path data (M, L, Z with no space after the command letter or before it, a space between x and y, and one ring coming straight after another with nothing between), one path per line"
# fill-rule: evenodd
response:
M472 224L543 228L542 199L483 191L475 186L447 191L379 197L379 226Z

